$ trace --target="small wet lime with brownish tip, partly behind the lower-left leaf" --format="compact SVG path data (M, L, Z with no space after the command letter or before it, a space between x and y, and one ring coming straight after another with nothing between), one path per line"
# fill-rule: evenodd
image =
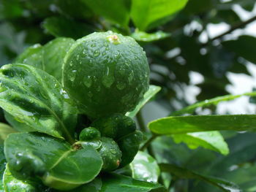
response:
M100 140L102 145L97 150L103 160L102 171L113 171L117 169L121 163L121 150L113 139L102 137Z

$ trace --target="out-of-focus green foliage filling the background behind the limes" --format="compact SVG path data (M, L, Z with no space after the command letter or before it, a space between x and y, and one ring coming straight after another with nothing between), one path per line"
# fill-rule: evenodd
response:
M234 9L237 6L252 12L252 17L242 18ZM93 31L116 31L143 46L151 84L162 87L155 102L170 113L191 104L189 85L200 88L195 101L201 101L228 93L229 72L252 75L247 64L256 64L256 38L237 31L256 20L254 9L255 0L0 0L0 64L12 63L26 47L45 45L55 37L78 39ZM211 37L209 26L220 23L227 31ZM203 80L193 83L192 74ZM216 114L216 106L208 107L208 114ZM200 147L191 150L171 137L157 138L152 150L159 163L256 191L256 134L223 131L222 135L229 155ZM162 174L160 182L170 191L218 191L186 175Z

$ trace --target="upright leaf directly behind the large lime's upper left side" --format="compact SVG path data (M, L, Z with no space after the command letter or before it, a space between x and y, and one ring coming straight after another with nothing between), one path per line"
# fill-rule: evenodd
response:
M53 75L59 82L61 82L64 57L74 42L74 39L59 37L48 42L43 47L44 70Z

